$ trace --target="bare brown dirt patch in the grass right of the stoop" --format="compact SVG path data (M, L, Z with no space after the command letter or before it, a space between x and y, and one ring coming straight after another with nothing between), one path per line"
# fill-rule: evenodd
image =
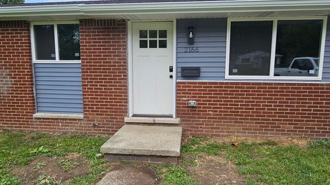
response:
M205 156L196 160L196 167L188 167L192 179L203 185L245 184L236 167L222 156Z

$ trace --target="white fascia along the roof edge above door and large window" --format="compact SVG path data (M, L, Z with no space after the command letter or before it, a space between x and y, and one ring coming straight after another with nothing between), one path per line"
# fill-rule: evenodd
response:
M166 3L120 3L120 4L81 4L84 12L225 12L231 11L284 11L284 10L329 10L329 0L245 0L245 1L190 1ZM148 14L148 12L144 12Z

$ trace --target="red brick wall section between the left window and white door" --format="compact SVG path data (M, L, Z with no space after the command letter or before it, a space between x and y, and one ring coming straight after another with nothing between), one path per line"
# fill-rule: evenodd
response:
M80 49L85 121L116 132L127 114L126 22L80 21Z

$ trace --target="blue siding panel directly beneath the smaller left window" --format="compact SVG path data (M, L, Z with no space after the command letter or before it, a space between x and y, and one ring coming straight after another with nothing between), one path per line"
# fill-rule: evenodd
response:
M34 64L37 112L83 114L80 64Z

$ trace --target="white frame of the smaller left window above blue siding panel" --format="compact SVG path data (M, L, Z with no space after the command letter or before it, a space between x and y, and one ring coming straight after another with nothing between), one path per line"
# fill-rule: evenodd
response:
M31 50L32 50L32 62L33 63L81 63L81 60L60 60L60 53L58 51L58 32L57 25L79 25L79 21L65 21L65 22L33 22L30 23L30 33L31 33ZM55 43L55 60L36 60L36 48L34 40L34 25L54 25L54 43ZM81 57L81 55L80 55Z

